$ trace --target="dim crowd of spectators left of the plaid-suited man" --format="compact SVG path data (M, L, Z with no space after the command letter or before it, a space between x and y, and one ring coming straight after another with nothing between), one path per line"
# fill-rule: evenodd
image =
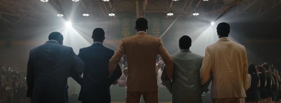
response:
M10 67L0 68L1 103L28 103L25 73L19 73Z

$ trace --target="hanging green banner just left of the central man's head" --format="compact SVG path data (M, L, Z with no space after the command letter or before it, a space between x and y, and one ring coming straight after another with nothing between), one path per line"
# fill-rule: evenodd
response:
M129 37L133 35L133 24L132 19L123 18L120 19L120 27L121 27L121 38Z

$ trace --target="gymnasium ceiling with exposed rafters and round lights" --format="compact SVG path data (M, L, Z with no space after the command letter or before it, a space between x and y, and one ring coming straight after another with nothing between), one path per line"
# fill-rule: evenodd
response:
M49 22L63 14L62 18L84 17L88 19L116 19L160 17L174 20L177 17L210 17L218 19L228 15L234 18L250 17L258 21L281 21L281 0L0 0L0 30L12 30L19 23ZM109 16L114 13L115 16ZM173 13L173 16L167 16ZM199 13L193 16L193 13ZM71 15L70 15L71 14Z

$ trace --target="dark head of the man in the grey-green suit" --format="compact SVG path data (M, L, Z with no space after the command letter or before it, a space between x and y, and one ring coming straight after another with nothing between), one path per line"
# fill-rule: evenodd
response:
M180 49L189 49L191 47L191 38L187 35L179 38L179 48Z

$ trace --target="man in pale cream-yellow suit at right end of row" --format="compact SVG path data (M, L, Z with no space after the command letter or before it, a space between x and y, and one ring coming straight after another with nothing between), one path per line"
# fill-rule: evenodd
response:
M200 69L201 85L210 76L212 103L244 103L248 75L247 54L244 46L228 38L230 26L217 25L216 43L206 47L205 57Z

